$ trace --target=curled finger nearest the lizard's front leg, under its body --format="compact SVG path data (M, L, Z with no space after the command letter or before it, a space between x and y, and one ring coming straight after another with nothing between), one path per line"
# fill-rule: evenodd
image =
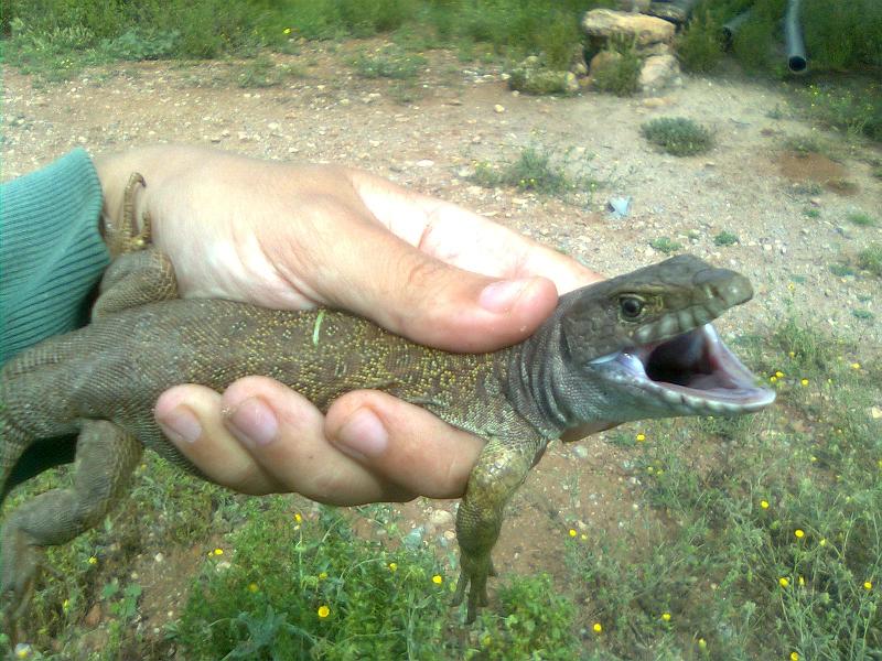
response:
M329 440L406 491L459 498L483 441L384 392L349 392L327 412Z

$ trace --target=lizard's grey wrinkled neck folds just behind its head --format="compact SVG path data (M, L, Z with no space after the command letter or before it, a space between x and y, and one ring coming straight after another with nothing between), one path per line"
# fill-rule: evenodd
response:
M568 405L566 372L572 357L561 334L562 312L558 306L536 333L509 349L503 386L515 410L547 438L584 422Z

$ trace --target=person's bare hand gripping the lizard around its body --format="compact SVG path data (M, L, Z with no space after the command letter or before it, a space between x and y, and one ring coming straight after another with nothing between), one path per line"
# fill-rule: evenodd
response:
M421 344L482 351L533 333L558 291L600 279L482 216L359 171L187 147L96 165L111 216L129 174L144 176L139 213L150 213L185 297L330 305ZM459 496L482 446L380 392L348 393L323 418L265 378L223 394L178 387L155 413L218 484L345 505Z

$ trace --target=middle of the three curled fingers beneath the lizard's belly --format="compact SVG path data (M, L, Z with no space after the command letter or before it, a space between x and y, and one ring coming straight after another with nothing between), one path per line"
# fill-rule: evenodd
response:
M283 490L332 505L416 497L329 443L321 412L278 381L239 379L224 392L223 402L233 434Z

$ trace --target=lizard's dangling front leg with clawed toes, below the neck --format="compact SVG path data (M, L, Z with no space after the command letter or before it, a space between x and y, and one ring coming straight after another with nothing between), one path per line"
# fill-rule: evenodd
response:
M503 510L544 447L545 441L538 438L493 438L472 468L456 512L461 567L453 597L453 604L460 604L469 590L466 622L474 621L478 606L487 605L487 576L495 574L491 551L499 537Z

